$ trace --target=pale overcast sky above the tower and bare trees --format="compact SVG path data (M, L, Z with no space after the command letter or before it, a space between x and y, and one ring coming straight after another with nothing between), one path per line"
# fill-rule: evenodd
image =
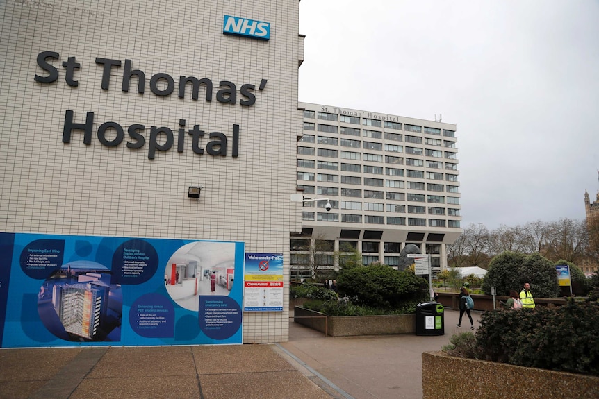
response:
M299 99L457 124L462 227L584 219L599 0L302 0Z

